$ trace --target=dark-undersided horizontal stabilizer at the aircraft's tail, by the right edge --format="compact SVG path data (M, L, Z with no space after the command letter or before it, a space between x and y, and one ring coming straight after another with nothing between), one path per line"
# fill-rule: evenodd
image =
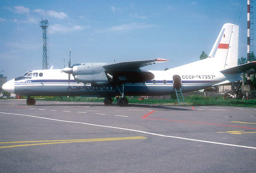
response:
M243 73L243 72L245 72L249 69L255 68L255 67L256 67L256 61L249 62L247 64L242 64L242 65L239 65L239 66L235 66L235 67L232 67L230 69L225 69L225 70L222 70L220 72L224 73L224 74L237 74L237 73Z

